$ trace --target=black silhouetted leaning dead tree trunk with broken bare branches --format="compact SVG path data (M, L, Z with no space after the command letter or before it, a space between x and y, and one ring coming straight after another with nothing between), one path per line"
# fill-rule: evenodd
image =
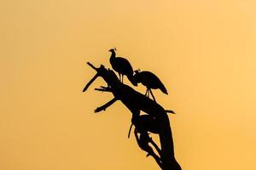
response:
M89 88L90 84L97 77L102 77L108 83L108 87L96 88L96 90L113 94L113 99L107 104L96 108L95 112L105 111L108 106L120 100L131 111L131 122L135 126L134 134L139 147L146 151L148 156L152 156L162 170L181 170L174 156L172 129L166 114L172 111L166 111L161 105L154 102L154 100L123 84L112 70L106 69L103 65L96 68L89 62L87 64L96 71L96 76L86 84L83 92ZM148 119L147 125L141 123L141 111L148 114L148 118L146 118ZM153 139L148 136L148 133L157 133L159 135L160 147L154 143ZM154 147L157 153L154 152L149 144Z

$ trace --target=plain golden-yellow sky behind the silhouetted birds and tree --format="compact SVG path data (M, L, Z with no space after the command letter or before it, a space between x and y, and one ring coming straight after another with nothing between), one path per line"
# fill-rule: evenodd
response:
M183 170L256 169L253 0L1 1L0 169L158 169L127 139L131 113L93 90L109 48L152 71ZM125 79L127 82L127 79ZM137 90L144 93L140 85ZM102 143L101 141L104 141Z

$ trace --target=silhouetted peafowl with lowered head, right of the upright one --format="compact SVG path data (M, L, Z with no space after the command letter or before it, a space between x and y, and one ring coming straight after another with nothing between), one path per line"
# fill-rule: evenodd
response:
M151 91L151 89L160 89L164 94L168 94L165 85L163 84L163 82L160 81L160 79L154 75L154 73L150 72L150 71L134 71L135 75L134 75L134 79L137 83L142 83L144 86L146 86L147 90L146 90L146 96L148 96L149 98L149 93L152 95L154 101L154 95Z

